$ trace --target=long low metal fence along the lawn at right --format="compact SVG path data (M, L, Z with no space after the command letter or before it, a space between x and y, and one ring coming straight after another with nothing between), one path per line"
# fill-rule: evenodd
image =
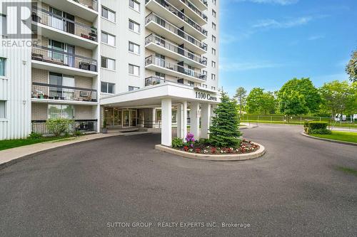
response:
M240 115L241 122L258 125L259 123L268 124L286 124L303 125L304 122L321 121L328 122L328 128L331 130L356 131L357 120L353 117L346 119L332 119L331 117L311 117L311 116L285 116L285 115Z

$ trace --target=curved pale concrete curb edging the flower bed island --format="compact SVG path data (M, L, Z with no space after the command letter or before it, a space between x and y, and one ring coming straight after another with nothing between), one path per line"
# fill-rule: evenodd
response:
M214 162L236 162L236 161L243 161L248 159L256 159L266 153L265 147L263 147L261 144L258 143L254 143L254 144L257 144L259 146L259 149L255 152L247 153L247 154L195 154L195 153L183 152L178 149L163 146L161 144L155 145L155 149L161 152L176 154L180 157L185 157L189 159L202 159L202 160L209 160Z

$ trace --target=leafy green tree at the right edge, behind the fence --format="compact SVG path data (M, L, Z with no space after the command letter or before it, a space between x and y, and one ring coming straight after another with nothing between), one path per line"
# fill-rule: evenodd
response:
M331 116L343 112L351 114L357 111L357 83L348 84L347 81L333 80L324 83L320 88L323 107L331 112Z

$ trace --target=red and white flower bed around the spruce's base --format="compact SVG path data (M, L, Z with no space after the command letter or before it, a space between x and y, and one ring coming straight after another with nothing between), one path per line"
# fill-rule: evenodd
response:
M209 143L209 140L200 139L196 141L191 134L187 135L185 143L175 144L174 149L195 154L246 154L256 152L259 149L258 144L247 139L241 139L239 147L214 147Z

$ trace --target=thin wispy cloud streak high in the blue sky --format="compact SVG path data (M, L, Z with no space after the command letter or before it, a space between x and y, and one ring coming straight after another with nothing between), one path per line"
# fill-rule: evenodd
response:
M253 25L253 28L291 28L295 26L302 26L312 20L311 16L303 16L298 19L288 21L276 21L274 19L265 19L258 21Z

